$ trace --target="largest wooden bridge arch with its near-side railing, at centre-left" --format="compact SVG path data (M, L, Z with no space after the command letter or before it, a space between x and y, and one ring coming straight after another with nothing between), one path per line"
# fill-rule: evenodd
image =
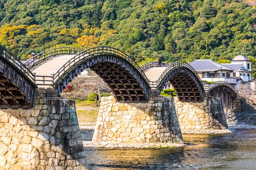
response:
M36 76L36 82L38 85L53 85L61 93L86 68L96 72L108 84L119 102L148 101L150 86L144 72L127 54L111 47L100 46L81 51L52 77Z

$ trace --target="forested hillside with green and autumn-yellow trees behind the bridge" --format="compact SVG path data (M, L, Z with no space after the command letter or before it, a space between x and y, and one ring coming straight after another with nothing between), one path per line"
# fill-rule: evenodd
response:
M26 59L57 46L109 45L139 64L256 56L253 0L1 0L0 45ZM255 3L256 4L256 3Z

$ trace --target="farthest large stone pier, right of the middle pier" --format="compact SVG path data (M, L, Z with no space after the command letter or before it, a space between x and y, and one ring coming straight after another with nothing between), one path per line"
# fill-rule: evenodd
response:
M221 100L205 97L204 102L180 102L175 107L182 133L207 133L207 130L226 129L227 120Z

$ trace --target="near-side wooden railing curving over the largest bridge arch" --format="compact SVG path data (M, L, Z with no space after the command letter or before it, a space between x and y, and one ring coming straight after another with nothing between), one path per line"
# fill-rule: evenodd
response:
M122 51L119 51L116 48L111 48L107 46L99 46L99 47L93 47L88 48L87 50L81 51L79 54L71 58L69 61L67 61L61 68L56 71L56 73L52 77L44 77L44 76L36 76L36 82L43 82L40 85L55 85L58 83L58 80L64 76L66 73L69 73L70 69L73 69L76 64L81 62L84 59L90 58L92 55L96 54L111 54L121 57L122 59L125 59L128 61L134 68L136 68L140 75L145 79L145 82L149 85L149 80L144 74L143 70L140 68L139 65L137 65L136 62L134 62L127 54L125 54ZM43 78L44 77L44 78ZM50 79L52 80L50 81ZM46 81L47 79L47 81Z

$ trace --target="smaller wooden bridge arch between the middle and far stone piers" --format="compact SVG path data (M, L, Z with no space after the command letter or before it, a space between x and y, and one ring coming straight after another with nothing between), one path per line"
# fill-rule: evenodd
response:
M162 91L171 82L182 102L201 102L204 99L204 86L196 71L185 62L174 62L157 80L157 89Z

